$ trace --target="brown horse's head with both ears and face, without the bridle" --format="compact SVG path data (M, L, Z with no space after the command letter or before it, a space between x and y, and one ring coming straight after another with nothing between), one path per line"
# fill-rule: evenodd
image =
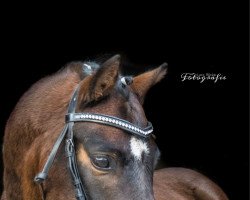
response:
M90 71L79 83L76 112L105 114L146 127L142 104L147 91L164 77L165 66L132 79L120 75L119 56L93 70L86 64ZM88 199L154 199L153 170L160 153L153 137L93 122L76 122L73 132Z

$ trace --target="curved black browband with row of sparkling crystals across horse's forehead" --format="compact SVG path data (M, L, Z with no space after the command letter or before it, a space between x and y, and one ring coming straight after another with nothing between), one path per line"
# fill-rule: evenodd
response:
M129 121L103 114L92 113L69 113L66 115L66 122L95 122L105 125L115 126L133 134L149 137L153 132L153 126L150 122L146 128L138 127Z

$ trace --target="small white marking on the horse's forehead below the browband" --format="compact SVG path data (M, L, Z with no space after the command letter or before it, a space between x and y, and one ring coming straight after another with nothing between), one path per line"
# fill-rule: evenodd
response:
M130 150L132 155L137 159L141 160L142 154L148 154L149 148L147 143L135 138L131 137L130 139Z

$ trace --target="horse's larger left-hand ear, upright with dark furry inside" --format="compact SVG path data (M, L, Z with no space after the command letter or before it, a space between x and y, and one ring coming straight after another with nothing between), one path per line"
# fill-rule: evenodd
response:
M78 102L89 103L107 96L114 88L120 67L120 55L105 61L97 72L86 77L80 86Z

